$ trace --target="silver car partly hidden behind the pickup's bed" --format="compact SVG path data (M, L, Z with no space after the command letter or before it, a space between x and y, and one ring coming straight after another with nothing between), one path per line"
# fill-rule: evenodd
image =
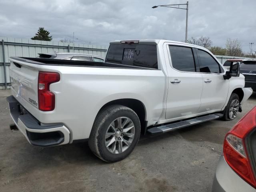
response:
M83 53L38 53L37 58L104 62L104 58Z

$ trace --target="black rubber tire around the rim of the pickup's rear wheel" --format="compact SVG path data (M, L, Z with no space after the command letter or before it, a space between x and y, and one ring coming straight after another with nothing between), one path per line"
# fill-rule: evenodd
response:
M130 146L120 154L112 154L105 146L105 134L110 124L119 117L128 117L134 123L134 138ZM134 150L140 138L140 120L130 108L122 105L111 105L102 109L96 116L89 137L92 152L105 162L117 162L126 158Z

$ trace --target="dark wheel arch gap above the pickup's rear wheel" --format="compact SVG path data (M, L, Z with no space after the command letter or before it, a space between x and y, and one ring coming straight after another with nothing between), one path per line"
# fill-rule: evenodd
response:
M102 110L104 110L104 108L114 104L123 105L134 110L134 112L138 115L140 119L141 133L144 134L147 126L145 105L140 100L137 100L137 99L131 99L131 98L116 99L104 104L98 111L97 116Z

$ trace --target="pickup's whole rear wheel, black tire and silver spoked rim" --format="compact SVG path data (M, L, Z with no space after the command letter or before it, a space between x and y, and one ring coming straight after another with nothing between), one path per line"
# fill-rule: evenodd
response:
M96 117L89 138L92 152L106 162L126 158L140 138L140 120L130 108L112 105Z

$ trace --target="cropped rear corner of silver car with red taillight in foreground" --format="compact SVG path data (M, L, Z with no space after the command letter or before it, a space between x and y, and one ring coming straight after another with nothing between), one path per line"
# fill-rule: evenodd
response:
M212 192L256 192L256 107L226 135Z

